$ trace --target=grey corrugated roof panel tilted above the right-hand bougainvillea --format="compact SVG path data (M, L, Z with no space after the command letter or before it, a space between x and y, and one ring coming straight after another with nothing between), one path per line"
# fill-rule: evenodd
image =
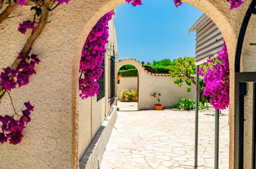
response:
M219 53L223 47L220 30L205 14L190 28L196 31L195 65L200 65L209 57Z

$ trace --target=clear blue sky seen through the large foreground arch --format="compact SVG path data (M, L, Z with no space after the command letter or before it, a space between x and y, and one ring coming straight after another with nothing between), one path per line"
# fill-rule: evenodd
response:
M140 61L194 56L195 33L189 28L203 12L172 0L143 0L142 6L124 4L116 8L115 28L119 58Z

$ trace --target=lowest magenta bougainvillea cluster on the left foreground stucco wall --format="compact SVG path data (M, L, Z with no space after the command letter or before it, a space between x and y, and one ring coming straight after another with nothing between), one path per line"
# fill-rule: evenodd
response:
M0 142L3 144L9 141L10 144L18 144L22 141L22 131L26 128L27 124L31 121L30 113L33 111L34 106L30 104L30 101L25 102L26 109L22 111L23 116L19 120L15 120L14 116L0 116L0 124L2 123L0 132Z

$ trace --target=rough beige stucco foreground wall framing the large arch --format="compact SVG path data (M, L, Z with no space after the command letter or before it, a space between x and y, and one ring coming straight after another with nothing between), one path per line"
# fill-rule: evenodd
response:
M32 121L24 131L19 145L1 146L1 165L4 168L77 168L78 167L78 67L85 38L97 20L109 10L122 5L123 0L72 0L50 12L48 23L32 46L31 53L42 59L36 67L37 74L30 84L13 90L17 110L25 101L35 105ZM222 32L226 40L230 61L230 168L233 168L234 129L234 54L238 33L244 14L251 1L238 9L229 10L222 0L186 0L206 13ZM0 25L0 67L12 65L17 53L28 38L18 33L18 24L32 19L30 7L18 7ZM252 27L255 22L251 23ZM255 38L255 29L248 29ZM254 41L252 41L254 43ZM246 43L244 49L255 52ZM247 48L248 47L248 48ZM246 50L247 51L247 50ZM245 52L246 52L245 51ZM255 68L255 57L246 61L242 53L242 70ZM247 51L248 52L248 51ZM254 63L254 64L253 64ZM253 65L251 65L253 64ZM251 65L251 66L249 66ZM11 114L7 96L1 100L1 114Z

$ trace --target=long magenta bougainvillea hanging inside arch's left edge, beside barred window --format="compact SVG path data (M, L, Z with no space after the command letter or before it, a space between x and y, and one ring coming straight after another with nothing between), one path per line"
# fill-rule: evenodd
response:
M92 28L89 33L81 55L79 89L80 97L86 99L99 94L97 80L102 75L101 65L103 63L105 45L108 43L108 22L113 12L105 14Z

